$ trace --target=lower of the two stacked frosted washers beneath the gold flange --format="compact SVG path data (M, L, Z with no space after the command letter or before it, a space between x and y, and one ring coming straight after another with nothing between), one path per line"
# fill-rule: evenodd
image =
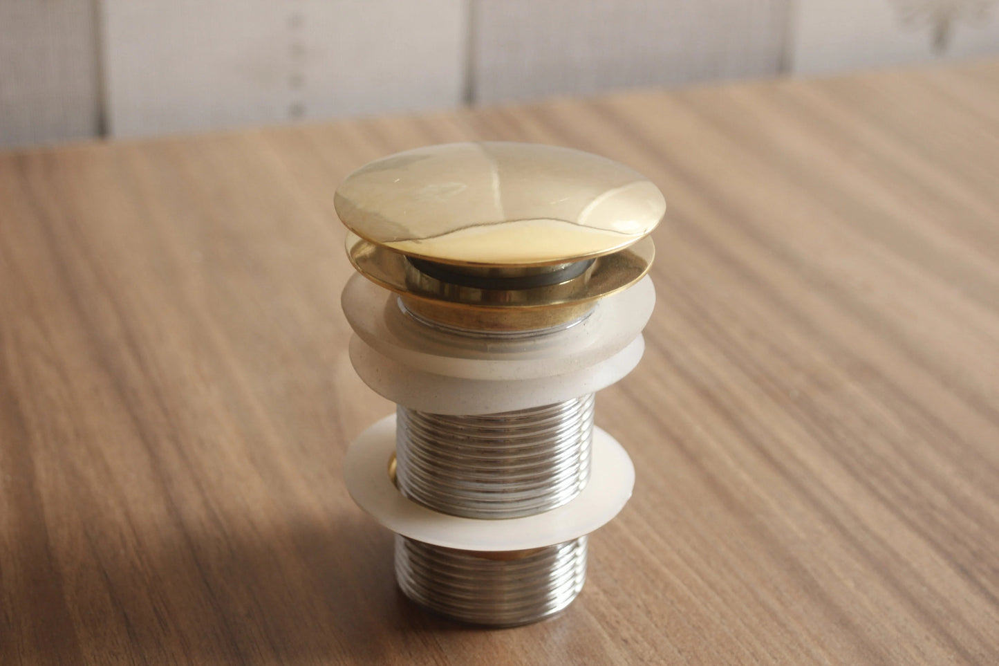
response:
M435 414L495 414L577 398L610 386L631 372L645 349L639 334L610 358L589 367L538 379L464 379L423 370L383 356L351 337L351 363L373 391L397 404ZM545 369L546 361L535 364Z

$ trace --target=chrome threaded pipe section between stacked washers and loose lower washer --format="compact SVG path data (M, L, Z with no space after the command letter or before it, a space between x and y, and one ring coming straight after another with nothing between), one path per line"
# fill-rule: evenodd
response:
M589 480L593 394L475 416L397 408L396 484L436 511L518 518L561 506Z

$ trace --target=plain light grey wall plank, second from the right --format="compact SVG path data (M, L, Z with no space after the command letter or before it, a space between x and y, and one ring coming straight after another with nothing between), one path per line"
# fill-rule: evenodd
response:
M476 101L775 74L790 0L476 0Z

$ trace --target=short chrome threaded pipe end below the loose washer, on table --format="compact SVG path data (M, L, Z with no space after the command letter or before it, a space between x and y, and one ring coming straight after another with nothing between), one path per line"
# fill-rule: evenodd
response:
M396 578L442 615L492 626L535 622L565 608L586 577L586 537L522 553L471 553L396 535Z

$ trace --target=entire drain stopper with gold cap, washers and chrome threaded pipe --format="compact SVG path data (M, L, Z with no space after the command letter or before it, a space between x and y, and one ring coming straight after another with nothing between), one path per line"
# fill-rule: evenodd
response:
M593 394L641 357L661 193L576 150L458 143L372 162L335 204L351 360L398 404L345 476L397 533L400 587L477 624L561 610L634 482Z

